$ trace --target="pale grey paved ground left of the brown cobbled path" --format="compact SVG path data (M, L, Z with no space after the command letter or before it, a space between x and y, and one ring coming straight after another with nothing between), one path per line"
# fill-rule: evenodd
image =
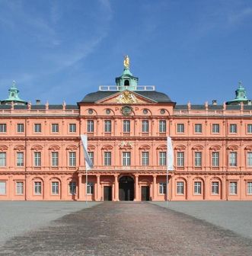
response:
M49 222L97 203L0 201L0 245L14 235L48 226Z

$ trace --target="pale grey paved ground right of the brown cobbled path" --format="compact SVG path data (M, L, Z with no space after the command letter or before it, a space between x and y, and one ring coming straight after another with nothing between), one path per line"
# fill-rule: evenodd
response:
M224 229L252 238L251 201L155 202L180 213L203 219ZM251 252L252 255L252 252Z

